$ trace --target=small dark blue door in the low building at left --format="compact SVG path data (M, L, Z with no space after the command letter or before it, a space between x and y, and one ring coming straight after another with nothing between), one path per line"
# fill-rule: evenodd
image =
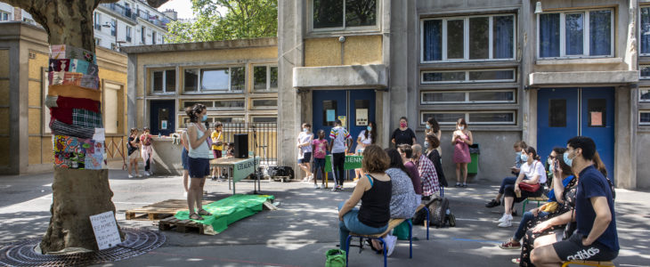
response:
M153 135L169 135L176 131L175 101L150 101L150 131Z

